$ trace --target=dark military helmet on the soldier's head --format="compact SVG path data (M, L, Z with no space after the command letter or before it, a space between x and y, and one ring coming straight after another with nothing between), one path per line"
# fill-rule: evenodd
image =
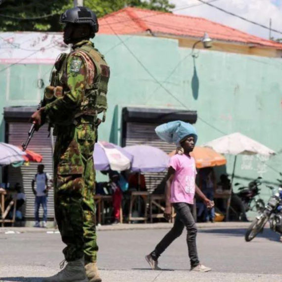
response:
M87 7L74 7L67 9L61 14L60 23L89 24L93 34L99 30L98 20L95 13Z

